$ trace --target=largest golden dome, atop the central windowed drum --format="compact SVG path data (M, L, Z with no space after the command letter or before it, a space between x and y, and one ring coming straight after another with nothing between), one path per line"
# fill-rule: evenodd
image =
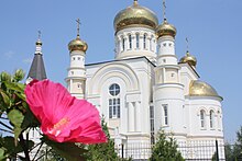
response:
M134 0L133 5L120 11L113 22L116 32L130 26L148 26L155 30L158 25L158 19L153 11L138 4Z

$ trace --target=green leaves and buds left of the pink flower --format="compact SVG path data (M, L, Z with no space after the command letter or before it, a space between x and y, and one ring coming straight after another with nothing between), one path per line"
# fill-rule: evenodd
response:
M24 152L24 160L30 160L29 151L34 142L23 139L23 131L29 124L23 125L29 106L25 101L25 85L20 83L24 78L23 70L15 70L13 76L0 73L0 125L1 130L14 137L0 137L0 160L15 158L16 153ZM33 116L34 117L34 116ZM8 123L9 120L9 123Z

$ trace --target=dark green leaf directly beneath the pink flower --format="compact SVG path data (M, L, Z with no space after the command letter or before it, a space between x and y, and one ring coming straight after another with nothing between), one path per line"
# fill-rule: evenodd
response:
M58 143L47 139L46 137L44 137L43 140L46 145L52 147L58 154L61 154L67 160L86 161L86 159L82 157L86 150L81 147L78 147L75 143L70 143L70 142Z

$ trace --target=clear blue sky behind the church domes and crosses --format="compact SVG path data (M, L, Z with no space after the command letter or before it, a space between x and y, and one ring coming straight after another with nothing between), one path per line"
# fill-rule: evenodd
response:
M18 68L29 71L35 50L37 31L42 31L43 55L47 77L64 82L69 65L67 44L76 37L76 19L80 19L80 37L88 43L86 61L100 62L114 57L113 19L131 5L132 0L2 0L0 2L0 71ZM139 0L162 20L162 0ZM241 0L169 0L168 22L177 28L176 54L189 50L197 57L200 79L223 96L226 139L233 141L242 125L241 106Z

